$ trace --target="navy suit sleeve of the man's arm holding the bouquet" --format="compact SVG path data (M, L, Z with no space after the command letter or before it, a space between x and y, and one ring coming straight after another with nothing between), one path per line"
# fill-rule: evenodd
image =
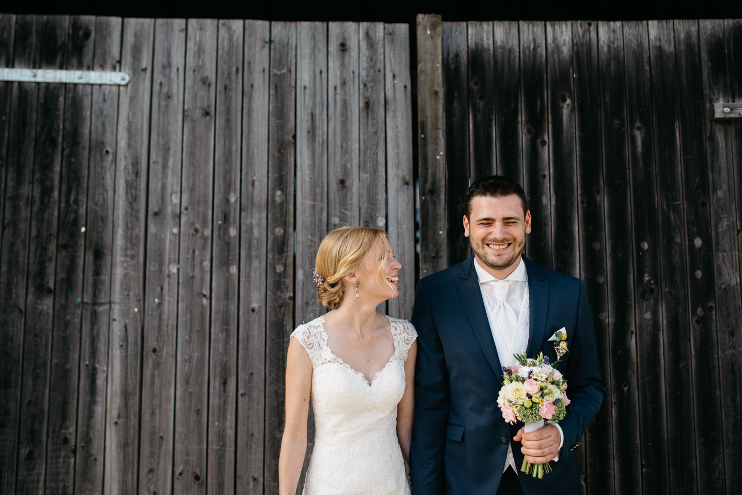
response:
M568 456L580 443L588 425L595 421L605 396L605 386L600 378L595 329L588 303L585 284L580 281L577 323L569 347L569 360L564 370L568 378L567 396L571 404L567 416L559 422L564 433L560 457Z

